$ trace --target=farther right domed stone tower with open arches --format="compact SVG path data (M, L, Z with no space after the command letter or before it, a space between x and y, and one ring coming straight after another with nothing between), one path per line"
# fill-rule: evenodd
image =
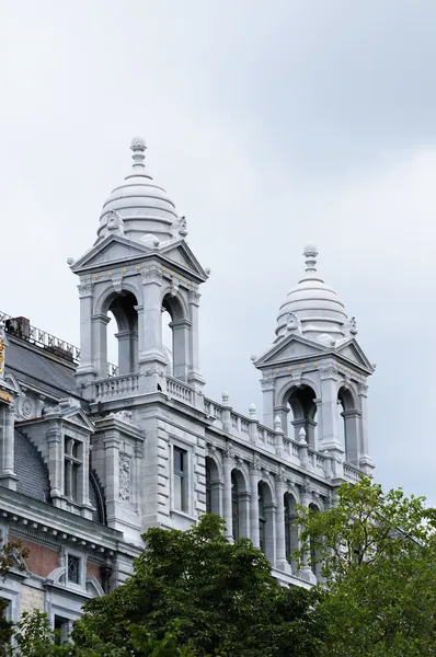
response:
M354 316L317 270L318 250L306 246L306 272L287 295L276 338L254 365L262 372L264 423L282 426L312 449L372 469L367 438L367 378L374 367L359 347Z

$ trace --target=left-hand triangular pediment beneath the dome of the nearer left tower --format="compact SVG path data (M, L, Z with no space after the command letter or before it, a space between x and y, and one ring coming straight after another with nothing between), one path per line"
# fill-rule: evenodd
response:
M72 272L101 267L102 265L114 265L137 258L151 253L152 250L145 244L126 240L126 238L110 235L90 251L87 251L71 267Z

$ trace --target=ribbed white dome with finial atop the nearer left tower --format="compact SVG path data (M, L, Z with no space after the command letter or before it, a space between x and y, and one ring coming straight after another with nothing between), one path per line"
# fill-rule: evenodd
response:
M142 137L131 139L131 171L124 183L113 189L103 206L96 242L108 234L145 243L150 242L153 237L159 242L173 237L180 219L167 192L146 171L146 148Z

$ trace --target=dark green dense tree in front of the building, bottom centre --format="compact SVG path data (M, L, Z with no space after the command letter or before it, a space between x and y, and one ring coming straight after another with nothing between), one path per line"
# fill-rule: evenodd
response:
M173 652L157 655L318 656L317 593L282 587L264 554L249 539L229 543L223 528L207 515L187 531L149 529L134 575L87 603L76 647L142 657L168 641Z

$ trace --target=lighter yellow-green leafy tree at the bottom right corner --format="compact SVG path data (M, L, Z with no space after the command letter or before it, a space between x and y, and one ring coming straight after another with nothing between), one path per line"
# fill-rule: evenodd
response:
M326 511L299 508L300 563L324 578L318 612L329 657L414 657L436 648L436 511L363 476Z

